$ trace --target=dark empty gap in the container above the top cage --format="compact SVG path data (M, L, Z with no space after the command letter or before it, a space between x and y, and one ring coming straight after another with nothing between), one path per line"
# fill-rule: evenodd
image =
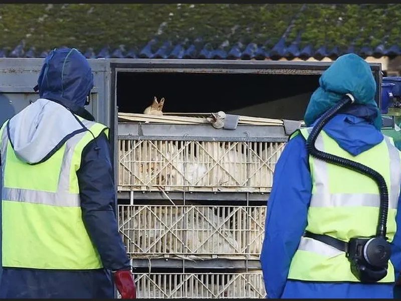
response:
M117 105L119 112L143 113L156 96L165 99L163 112L301 120L319 76L120 71Z

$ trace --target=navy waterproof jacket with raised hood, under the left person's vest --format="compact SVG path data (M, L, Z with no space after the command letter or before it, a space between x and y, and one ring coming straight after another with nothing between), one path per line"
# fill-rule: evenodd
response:
M51 52L40 73L38 87L41 98L56 101L81 117L93 120L93 116L83 108L86 96L93 88L93 74L85 57L78 51L60 49ZM111 270L130 267L118 233L113 174L110 142L103 133L84 148L77 175L82 218L104 269L4 268L0 282L1 298L113 298Z

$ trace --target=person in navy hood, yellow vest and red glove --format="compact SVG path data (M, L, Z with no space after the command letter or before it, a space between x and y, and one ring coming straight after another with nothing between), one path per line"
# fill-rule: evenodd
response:
M84 109L93 74L50 52L40 98L0 129L2 298L123 298L136 288L115 216L108 128Z

